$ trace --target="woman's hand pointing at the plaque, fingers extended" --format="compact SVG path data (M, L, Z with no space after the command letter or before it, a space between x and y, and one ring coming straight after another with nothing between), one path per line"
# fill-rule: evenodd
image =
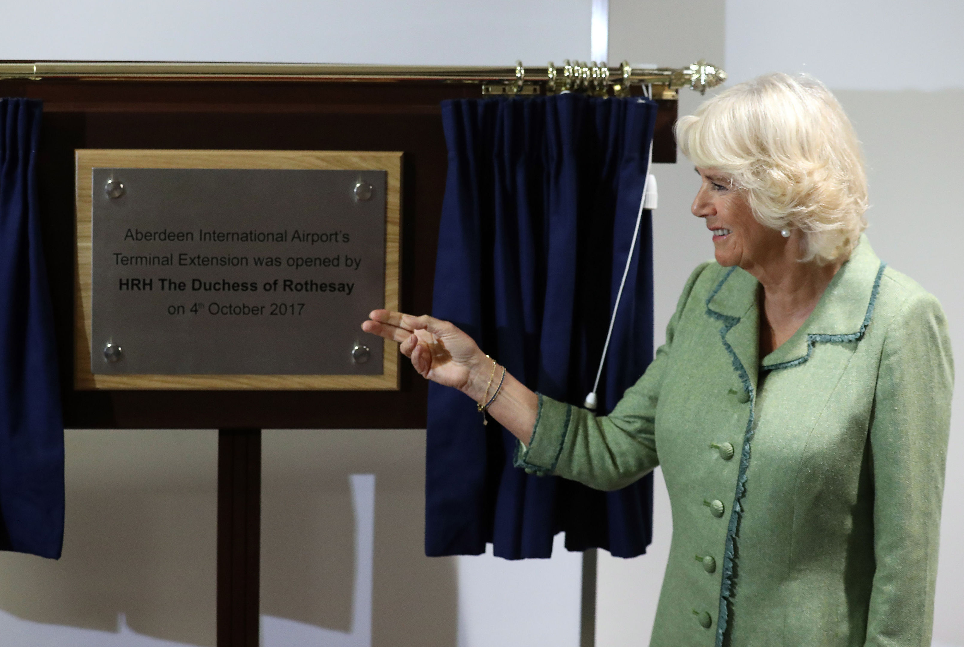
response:
M484 396L475 392L480 391L476 383L485 372L481 389L485 388L486 371L492 370L493 362L456 326L427 314L416 317L390 310L372 310L368 317L362 330L399 342L402 354L412 360L419 375L463 391L474 400Z

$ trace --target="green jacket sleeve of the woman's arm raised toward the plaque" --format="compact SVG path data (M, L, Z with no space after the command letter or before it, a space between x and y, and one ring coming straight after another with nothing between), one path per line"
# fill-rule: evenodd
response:
M539 394L532 438L528 447L517 445L516 467L529 473L571 478L597 490L618 490L659 465L656 401L686 302L709 264L703 263L690 275L666 326L666 343L656 350L646 372L626 390L608 416L597 417Z

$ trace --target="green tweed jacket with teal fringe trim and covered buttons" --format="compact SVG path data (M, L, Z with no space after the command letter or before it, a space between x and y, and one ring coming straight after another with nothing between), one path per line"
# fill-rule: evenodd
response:
M662 466L655 647L930 645L953 364L937 300L866 237L759 355L759 283L699 266L606 417L540 396L517 465L621 488Z

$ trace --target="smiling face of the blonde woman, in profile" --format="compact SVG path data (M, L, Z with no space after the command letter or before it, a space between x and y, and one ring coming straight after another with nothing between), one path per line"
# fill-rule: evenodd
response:
M692 212L707 222L713 237L716 262L724 267L738 265L749 270L764 263L784 248L779 231L763 227L753 217L750 205L730 179L714 169L697 167L702 184L693 201Z

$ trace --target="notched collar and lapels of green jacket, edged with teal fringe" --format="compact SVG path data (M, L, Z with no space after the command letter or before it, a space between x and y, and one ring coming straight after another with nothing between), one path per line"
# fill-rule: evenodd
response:
M790 368L810 359L819 342L858 341L870 324L885 264L873 253L866 235L827 285L817 308L779 348L763 358L763 368ZM742 364L745 379L756 385L759 363L760 283L739 268L728 270L707 300L707 313L724 322L723 342ZM737 362L735 361L735 368ZM738 372L738 370L737 370Z

